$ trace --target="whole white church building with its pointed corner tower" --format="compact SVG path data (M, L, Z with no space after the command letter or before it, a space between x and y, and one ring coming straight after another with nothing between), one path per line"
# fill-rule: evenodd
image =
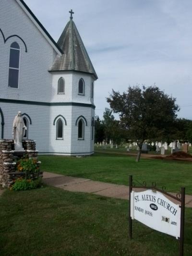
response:
M23 0L0 0L0 136L20 110L41 154L94 153L94 67L72 19L58 42Z

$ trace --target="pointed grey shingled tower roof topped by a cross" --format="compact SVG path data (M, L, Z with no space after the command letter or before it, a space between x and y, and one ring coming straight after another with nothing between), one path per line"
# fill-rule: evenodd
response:
M72 20L72 13L70 21L64 28L57 44L62 49L63 54L56 56L50 71L77 71L90 73L96 79L98 78L84 43Z

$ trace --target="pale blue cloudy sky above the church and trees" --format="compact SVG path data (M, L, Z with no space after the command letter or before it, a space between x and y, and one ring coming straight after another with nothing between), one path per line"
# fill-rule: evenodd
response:
M96 115L112 88L153 85L192 119L192 0L25 0L57 40L73 21L94 65Z

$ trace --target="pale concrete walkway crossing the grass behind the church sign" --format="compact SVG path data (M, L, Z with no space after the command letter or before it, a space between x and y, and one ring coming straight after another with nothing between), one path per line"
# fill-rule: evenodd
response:
M72 192L85 192L119 199L129 199L129 186L96 182L85 178L75 178L51 172L43 173L44 183ZM142 189L135 189L142 191ZM176 193L170 193L176 195ZM169 197L174 203L178 201ZM192 195L185 195L185 207L192 207Z

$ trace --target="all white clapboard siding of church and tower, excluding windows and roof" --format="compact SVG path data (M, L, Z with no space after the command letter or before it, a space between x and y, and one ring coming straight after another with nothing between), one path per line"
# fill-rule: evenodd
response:
M90 104L94 104L91 98L92 82L91 74L80 72L48 72L56 51L48 40L41 34L36 25L26 15L16 0L0 0L0 29L7 38L12 35L21 37L27 47L18 37L12 37L4 43L0 34L0 98L21 100L15 102L3 102L0 100L0 108L4 114L4 138L12 138L12 123L15 115L20 110L30 116L32 124L28 126L28 138L36 140L36 148L41 154L59 155L89 155L94 151L92 140L91 121L95 116L95 110ZM8 87L10 46L16 41L21 49L19 88ZM58 80L65 80L65 94L58 94ZM84 96L78 95L79 79L84 79ZM37 101L24 104L24 101ZM67 105L51 105L49 103L65 103ZM42 105L42 103L48 103ZM84 103L88 106L74 106L71 103ZM62 115L63 139L56 139L56 127L53 124L55 118ZM84 126L84 140L78 140L78 126L75 122L83 115L87 121ZM0 117L1 122L1 117ZM0 125L1 135L1 125Z

